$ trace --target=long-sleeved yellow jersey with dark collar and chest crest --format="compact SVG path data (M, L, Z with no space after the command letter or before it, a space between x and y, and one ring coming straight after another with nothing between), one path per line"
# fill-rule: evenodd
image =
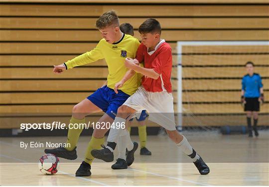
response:
M102 39L95 49L65 62L65 65L67 69L71 69L75 66L105 59L109 70L107 86L114 89L115 84L122 80L129 70L124 65L125 59L127 57L134 59L139 45L140 43L136 38L127 34L124 34L119 42L113 44L109 44L105 39ZM134 76L125 82L120 90L128 95L134 94L138 86L140 86L140 81L138 81L140 79L139 76L141 76L139 73L135 73Z

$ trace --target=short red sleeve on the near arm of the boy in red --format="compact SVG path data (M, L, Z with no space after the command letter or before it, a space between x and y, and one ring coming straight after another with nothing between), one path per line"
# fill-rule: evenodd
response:
M171 48L162 49L152 62L153 70L158 74L161 74L164 65L169 60L169 58L171 58L171 56L172 56Z

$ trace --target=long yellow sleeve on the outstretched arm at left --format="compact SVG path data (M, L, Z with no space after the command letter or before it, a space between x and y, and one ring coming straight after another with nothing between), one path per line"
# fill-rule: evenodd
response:
M70 61L65 62L67 69L71 69L76 66L84 65L87 63L95 62L99 59L104 59L102 54L102 44L101 41L97 44L96 48L93 50L86 52Z

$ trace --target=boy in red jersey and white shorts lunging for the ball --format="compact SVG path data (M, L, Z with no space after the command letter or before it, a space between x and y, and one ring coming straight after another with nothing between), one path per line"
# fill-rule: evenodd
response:
M200 174L206 175L209 173L209 167L191 147L188 140L175 128L170 81L171 47L163 39L160 39L161 27L155 19L147 19L139 26L138 31L142 37L142 43L137 50L136 59L127 58L125 65L127 68L144 75L142 85L118 109L114 124L125 123L130 115L146 110L149 114L149 120L163 126L171 140L193 160ZM140 62L144 62L144 67L139 65ZM111 128L107 146L101 150L92 150L93 157L112 162L116 141L119 136L126 133L128 133L126 129ZM134 161L134 157L127 158L127 163L129 161Z

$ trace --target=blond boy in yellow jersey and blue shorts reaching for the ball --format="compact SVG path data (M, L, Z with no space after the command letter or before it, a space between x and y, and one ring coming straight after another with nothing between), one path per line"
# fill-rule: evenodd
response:
M96 21L96 27L102 34L103 39L99 41L96 48L90 52L86 52L70 61L60 65L55 65L53 71L62 73L64 70L71 69L75 66L84 65L95 62L100 59L105 59L109 69L107 77L108 83L106 86L99 88L92 95L75 105L72 110L72 118L70 124L85 124L85 116L91 113L105 112L100 118L99 123L113 125L113 121L117 115L118 108L134 94L138 83L138 74L128 70L125 67L125 59L127 57L135 58L139 41L130 35L125 35L119 28L119 18L114 11L105 12ZM91 72L89 72L91 73ZM115 84L122 82L118 93L115 93ZM91 150L100 149L104 143L104 135L109 130L108 125L105 129L95 128L91 141L88 144L85 159L81 163L76 172L77 177L90 176L91 163L94 157L91 155ZM70 147L58 147L55 149L45 149L45 153L51 153L58 157L74 160L77 158L76 145L83 129L69 129L66 145ZM123 136L129 154L134 154L138 144L132 142L130 136ZM128 138L128 139L126 139ZM133 155L130 155L133 157Z

